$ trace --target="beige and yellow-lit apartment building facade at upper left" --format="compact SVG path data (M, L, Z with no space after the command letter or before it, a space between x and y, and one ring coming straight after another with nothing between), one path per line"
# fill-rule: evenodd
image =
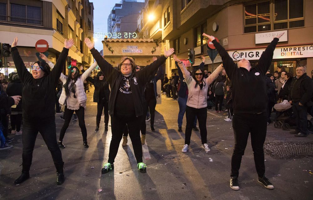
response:
M18 50L27 68L37 61L35 43L44 39L49 43L49 60L56 62L64 47L64 40L74 40L69 56L86 66L93 62L85 37L92 39L93 4L88 0L1 0L0 40L11 44L18 37ZM15 70L8 58L8 73ZM2 69L3 71L4 69ZM66 70L64 69L64 72Z

